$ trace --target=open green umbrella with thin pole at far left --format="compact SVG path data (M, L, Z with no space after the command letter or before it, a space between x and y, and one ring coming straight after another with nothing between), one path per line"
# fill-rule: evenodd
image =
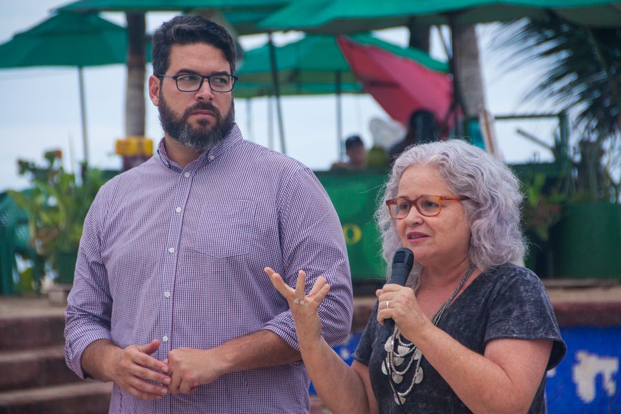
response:
M85 66L124 63L125 28L96 14L58 12L30 30L14 35L0 45L0 68L75 66L78 68L84 161L88 161L86 106L83 73Z

